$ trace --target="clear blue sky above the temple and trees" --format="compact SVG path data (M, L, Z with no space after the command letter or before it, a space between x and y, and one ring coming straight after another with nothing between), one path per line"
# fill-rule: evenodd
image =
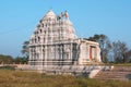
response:
M0 0L0 53L21 55L22 44L50 9L69 12L78 37L105 34L131 48L131 0Z

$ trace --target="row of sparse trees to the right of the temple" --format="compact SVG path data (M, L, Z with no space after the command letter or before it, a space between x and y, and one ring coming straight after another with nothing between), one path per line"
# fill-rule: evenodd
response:
M85 38L91 41L99 42L102 61L114 63L130 63L131 49L126 42L117 40L110 41L106 35L94 35L93 37Z

